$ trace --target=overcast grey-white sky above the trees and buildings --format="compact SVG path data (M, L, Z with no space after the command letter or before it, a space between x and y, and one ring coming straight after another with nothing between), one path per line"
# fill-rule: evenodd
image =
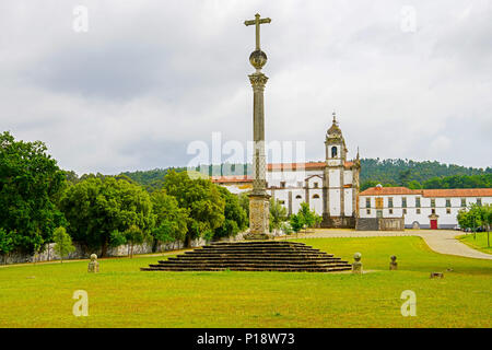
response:
M492 165L483 0L2 0L0 131L79 174L187 165L213 132L244 143L256 12L267 141L323 160L335 109L349 156Z

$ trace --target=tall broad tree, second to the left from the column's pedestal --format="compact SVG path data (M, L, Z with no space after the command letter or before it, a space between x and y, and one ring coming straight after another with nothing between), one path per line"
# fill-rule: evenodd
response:
M171 171L164 179L164 188L177 199L179 208L188 210L186 246L189 247L194 238L211 238L214 230L223 224L225 200L210 179Z

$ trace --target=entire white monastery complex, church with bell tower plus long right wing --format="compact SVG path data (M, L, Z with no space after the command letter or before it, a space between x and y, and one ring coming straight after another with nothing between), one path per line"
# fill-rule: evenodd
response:
M358 230L455 229L458 211L470 203L492 203L492 188L409 189L376 187L359 192L359 151L347 160L336 120L326 132L325 161L267 165L267 191L297 213L302 202L323 215L321 228ZM215 184L239 194L253 188L250 176L215 176Z

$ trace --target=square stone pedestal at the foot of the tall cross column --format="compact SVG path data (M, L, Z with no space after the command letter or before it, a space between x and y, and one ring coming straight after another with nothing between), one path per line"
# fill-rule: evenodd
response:
M249 195L249 234L246 240L270 238L270 196Z

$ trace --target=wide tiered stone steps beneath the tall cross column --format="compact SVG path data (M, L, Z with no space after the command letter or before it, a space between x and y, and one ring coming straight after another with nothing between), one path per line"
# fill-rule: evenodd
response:
M308 271L351 270L352 266L303 243L278 241L218 242L160 260L142 271Z

